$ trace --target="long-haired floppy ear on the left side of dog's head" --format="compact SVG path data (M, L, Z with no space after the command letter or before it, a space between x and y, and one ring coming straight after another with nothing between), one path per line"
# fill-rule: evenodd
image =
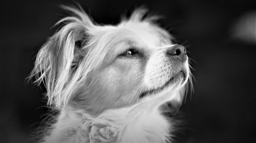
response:
M66 17L59 23L65 23L36 56L35 66L30 78L35 77L38 85L43 82L48 95L48 104L63 107L69 101L70 93L63 93L68 81L74 75L79 61L86 55L86 42L89 29L94 26L89 16L82 10L63 7L74 16Z

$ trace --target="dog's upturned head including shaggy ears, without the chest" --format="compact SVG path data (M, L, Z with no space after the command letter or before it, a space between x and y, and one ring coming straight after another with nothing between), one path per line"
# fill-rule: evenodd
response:
M99 25L82 10L39 50L32 76L44 82L55 107L92 113L138 103L180 99L189 77L182 45L137 9L118 25Z

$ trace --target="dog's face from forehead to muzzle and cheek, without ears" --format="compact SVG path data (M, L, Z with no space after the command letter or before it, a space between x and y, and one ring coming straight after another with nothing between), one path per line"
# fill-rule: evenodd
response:
M91 98L97 98L94 108L133 105L154 98L157 93L180 88L187 81L184 47L173 45L152 25L129 24L132 26L124 24L104 33L114 40L105 47L108 53L92 75L96 81L90 87L95 90ZM168 53L172 51L180 53Z

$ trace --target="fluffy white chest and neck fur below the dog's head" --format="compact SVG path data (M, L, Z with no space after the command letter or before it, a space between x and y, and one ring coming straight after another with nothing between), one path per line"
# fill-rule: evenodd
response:
M166 142L170 122L158 108L108 110L97 117L72 108L62 110L46 142Z

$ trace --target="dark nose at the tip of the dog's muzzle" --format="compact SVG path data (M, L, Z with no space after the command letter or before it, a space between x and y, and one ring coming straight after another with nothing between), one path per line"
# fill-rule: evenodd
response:
M178 58L182 62L185 62L187 59L186 48L182 45L174 45L167 49L167 56L170 56L172 58Z

